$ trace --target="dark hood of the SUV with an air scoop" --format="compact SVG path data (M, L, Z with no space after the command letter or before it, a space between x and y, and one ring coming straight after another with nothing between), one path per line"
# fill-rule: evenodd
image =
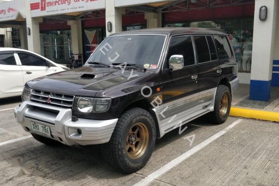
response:
M122 68L123 69L123 68ZM153 70L126 67L90 66L62 71L27 82L32 89L81 96L95 96L98 91L112 88L154 73Z

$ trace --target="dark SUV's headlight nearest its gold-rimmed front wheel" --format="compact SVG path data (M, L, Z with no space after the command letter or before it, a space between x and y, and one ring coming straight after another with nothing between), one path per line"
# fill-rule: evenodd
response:
M111 98L76 97L81 113L104 113L109 110Z

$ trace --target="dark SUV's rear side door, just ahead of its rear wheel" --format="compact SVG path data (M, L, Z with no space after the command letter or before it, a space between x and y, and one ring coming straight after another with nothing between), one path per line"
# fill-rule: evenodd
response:
M222 71L218 60L212 35L194 36L199 68L200 98L198 104L210 102L216 86L222 79Z

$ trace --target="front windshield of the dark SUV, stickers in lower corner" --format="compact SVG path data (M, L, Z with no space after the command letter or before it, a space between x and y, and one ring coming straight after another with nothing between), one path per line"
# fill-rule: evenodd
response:
M97 62L106 65L127 63L156 69L165 37L163 35L108 37L88 59L87 63Z

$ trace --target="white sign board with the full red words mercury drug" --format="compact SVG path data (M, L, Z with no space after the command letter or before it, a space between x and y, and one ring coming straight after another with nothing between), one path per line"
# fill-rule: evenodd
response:
M30 0L32 17L105 8L105 0Z

